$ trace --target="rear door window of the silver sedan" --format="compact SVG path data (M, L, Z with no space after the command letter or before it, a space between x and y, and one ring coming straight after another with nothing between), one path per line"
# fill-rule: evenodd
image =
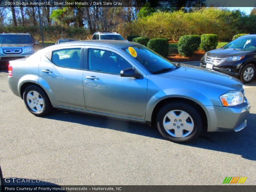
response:
M80 68L81 48L60 49L52 52L52 62L59 67Z

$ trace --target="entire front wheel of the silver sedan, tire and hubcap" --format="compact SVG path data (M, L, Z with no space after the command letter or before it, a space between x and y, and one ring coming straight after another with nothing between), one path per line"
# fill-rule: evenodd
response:
M180 102L161 108L156 123L161 135L176 143L195 140L203 128L203 120L198 110L192 105Z

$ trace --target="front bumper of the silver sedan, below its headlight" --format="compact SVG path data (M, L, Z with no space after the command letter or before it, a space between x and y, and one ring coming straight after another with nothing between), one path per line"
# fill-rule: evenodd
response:
M233 107L206 106L208 132L237 132L247 125L250 114L250 104L245 102Z

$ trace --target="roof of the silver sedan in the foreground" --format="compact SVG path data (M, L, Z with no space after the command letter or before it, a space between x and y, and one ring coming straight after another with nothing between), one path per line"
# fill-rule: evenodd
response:
M117 41L117 40L85 40L85 41L72 41L65 44L53 45L54 47L74 46L74 45L91 45L113 48L124 48L133 45L140 45L130 41Z

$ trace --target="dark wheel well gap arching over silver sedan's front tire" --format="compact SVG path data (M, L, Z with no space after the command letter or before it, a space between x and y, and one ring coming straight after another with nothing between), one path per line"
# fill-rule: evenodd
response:
M202 116L203 119L203 129L204 131L207 131L207 116L204 112L204 109L197 104L195 101L189 100L189 99L184 99L184 98L179 98L179 97L173 97L173 98L167 98L164 100L161 100L159 103L156 104L156 107L153 110L152 116L151 116L151 124L152 125L156 125L156 116L158 111L166 104L168 103L172 103L172 102L185 102L187 104L193 105L194 107L196 107L196 109L198 109L199 113Z

